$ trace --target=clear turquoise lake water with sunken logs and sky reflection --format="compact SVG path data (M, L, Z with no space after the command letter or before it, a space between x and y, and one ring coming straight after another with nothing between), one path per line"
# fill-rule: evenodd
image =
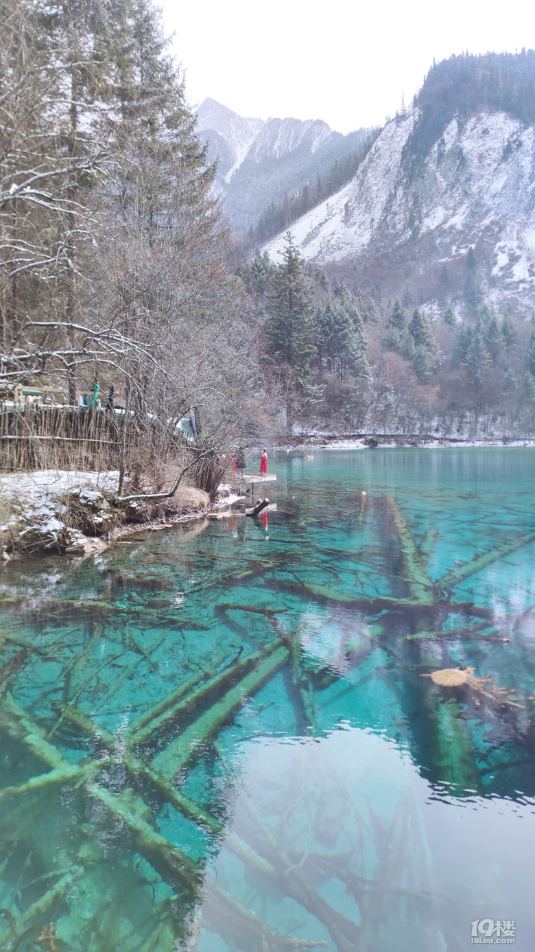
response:
M535 946L535 450L269 469L3 568L0 948Z

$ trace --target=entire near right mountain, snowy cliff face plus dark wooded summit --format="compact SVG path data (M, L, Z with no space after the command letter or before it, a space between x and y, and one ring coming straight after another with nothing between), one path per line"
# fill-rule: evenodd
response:
M532 312L535 52L435 64L352 179L291 230L307 262L355 289L409 284L429 307L485 297ZM262 245L273 260L283 233Z

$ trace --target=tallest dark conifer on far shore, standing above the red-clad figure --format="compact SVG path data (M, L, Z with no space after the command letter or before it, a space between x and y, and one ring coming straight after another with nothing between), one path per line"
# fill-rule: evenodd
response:
M301 397L306 403L319 399L321 387L313 387L315 371L310 367L316 355L315 326L305 262L285 236L282 264L276 268L268 297L266 341L287 379L287 434L291 437L294 409Z

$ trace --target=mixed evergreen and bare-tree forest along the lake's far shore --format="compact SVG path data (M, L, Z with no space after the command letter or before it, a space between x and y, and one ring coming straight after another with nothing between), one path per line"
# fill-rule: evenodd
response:
M467 285L473 258L467 262ZM291 234L278 265L238 268L257 320L272 392L298 424L331 433L505 441L535 431L535 316L473 298L463 321L380 286L366 294L306 266ZM468 291L467 291L468 293ZM294 426L295 431L295 426Z

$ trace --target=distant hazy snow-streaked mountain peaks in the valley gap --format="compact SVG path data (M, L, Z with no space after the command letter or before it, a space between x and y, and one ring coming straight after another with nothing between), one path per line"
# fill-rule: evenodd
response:
M219 159L215 191L226 198L235 230L256 225L261 213L296 193L336 161L360 149L368 129L348 135L334 132L321 119L247 119L205 99L197 129L208 139L210 161Z

